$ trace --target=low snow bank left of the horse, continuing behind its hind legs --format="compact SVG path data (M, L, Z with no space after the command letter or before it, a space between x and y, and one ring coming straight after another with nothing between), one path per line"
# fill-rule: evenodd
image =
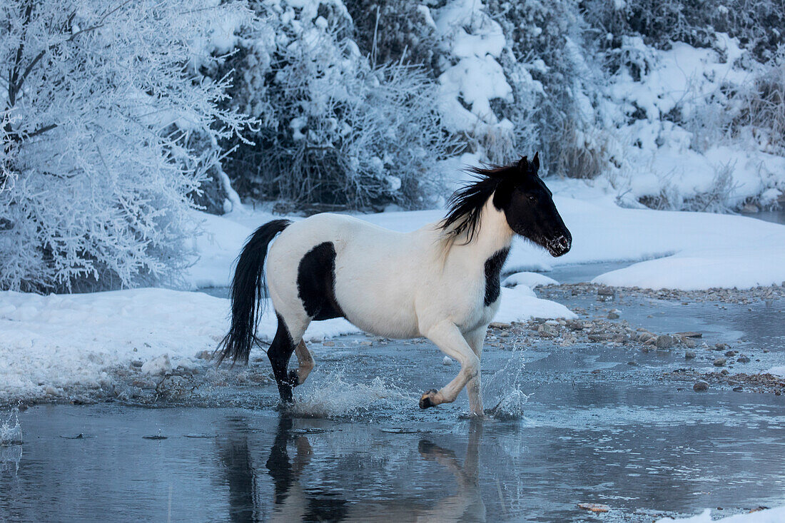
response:
M144 362L159 375L213 350L228 329L228 300L167 289L93 294L0 292L0 400L44 394L64 386L106 386L109 368ZM272 308L259 326L275 335ZM345 320L315 322L306 338L356 332Z

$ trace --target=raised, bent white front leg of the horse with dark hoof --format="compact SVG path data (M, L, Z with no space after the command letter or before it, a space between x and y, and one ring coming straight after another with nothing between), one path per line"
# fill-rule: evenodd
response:
M447 356L455 358L461 364L461 371L451 382L440 390L429 390L420 397L420 408L435 407L442 403L452 403L461 389L470 379L480 372L480 358L466 342L458 327L444 321L436 324L425 333L425 336L436 344Z

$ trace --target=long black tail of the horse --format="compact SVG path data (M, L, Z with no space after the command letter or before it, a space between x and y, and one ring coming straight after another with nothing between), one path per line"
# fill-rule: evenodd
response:
M229 290L232 298L232 326L218 344L218 364L225 358L248 363L250 348L261 340L256 335L256 325L261 316L267 287L265 285L265 257L267 246L276 234L291 224L289 220L268 221L253 235L237 258L235 277Z

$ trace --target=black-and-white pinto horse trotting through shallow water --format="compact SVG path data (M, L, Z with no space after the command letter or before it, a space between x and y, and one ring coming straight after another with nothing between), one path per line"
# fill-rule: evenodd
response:
M484 415L480 358L513 236L554 257L570 250L572 236L538 176L539 153L469 171L473 181L451 196L445 218L414 232L328 213L261 225L237 260L218 364L247 363L251 347L261 344L256 326L269 296L278 327L267 355L284 404L314 367L305 329L341 317L384 338L428 338L461 369L440 390L422 393L419 407L451 403L466 386L470 414ZM293 352L298 368L287 372Z

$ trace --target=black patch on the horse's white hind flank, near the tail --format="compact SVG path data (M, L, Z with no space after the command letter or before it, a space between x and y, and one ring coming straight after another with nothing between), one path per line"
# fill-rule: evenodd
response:
M314 320L344 317L335 299L335 246L332 242L319 243L302 257L297 288L305 313Z

